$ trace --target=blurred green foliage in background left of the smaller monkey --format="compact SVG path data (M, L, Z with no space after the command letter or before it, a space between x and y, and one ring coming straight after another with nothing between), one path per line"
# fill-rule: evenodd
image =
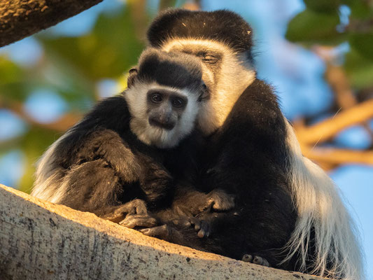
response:
M0 141L0 157L9 150L24 153L24 175L20 190L29 193L35 162L62 131L37 123L24 112L24 102L38 89L56 92L68 105L69 113L80 115L99 98L97 83L102 79L125 79L126 71L136 64L143 50L145 34L135 34L138 24L134 10L145 1L128 1L115 13L99 14L92 30L83 36L57 36L47 30L34 36L43 55L32 66L20 66L0 54L0 106L18 114L26 123L24 134ZM150 16L146 15L145 24ZM145 29L145 27L144 27ZM24 50L27 51L27 50ZM11 94L9 94L11 93ZM76 112L77 111L77 112ZM66 128L71 123L66 123Z

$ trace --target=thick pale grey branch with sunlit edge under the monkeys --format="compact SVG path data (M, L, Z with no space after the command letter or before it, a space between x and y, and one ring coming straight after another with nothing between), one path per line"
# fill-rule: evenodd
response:
M321 278L170 244L0 185L0 279Z

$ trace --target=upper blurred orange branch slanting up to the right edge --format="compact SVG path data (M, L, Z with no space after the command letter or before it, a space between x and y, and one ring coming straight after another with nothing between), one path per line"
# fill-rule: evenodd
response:
M364 123L372 118L373 99L341 111L336 116L316 123L316 125L295 128L301 144L312 145L327 141L346 127Z

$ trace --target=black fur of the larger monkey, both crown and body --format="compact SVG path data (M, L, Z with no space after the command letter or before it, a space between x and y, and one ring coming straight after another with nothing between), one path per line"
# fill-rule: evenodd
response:
M157 48L177 38L212 39L251 59L251 27L227 10L167 10L148 30L150 45ZM256 79L241 94L223 126L206 140L199 188L225 190L236 197L235 207L228 213L199 214L211 223L209 238L197 239L190 228L177 226L161 237L239 260L244 254L259 255L279 267L297 213L286 173L286 124L272 88ZM289 263L280 267L295 269Z

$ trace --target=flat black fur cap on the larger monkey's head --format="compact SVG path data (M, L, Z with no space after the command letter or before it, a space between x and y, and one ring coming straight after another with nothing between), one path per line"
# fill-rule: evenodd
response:
M169 9L153 20L148 29L148 41L159 48L169 39L195 38L224 42L232 50L248 53L251 59L252 29L247 22L229 10L213 13Z

